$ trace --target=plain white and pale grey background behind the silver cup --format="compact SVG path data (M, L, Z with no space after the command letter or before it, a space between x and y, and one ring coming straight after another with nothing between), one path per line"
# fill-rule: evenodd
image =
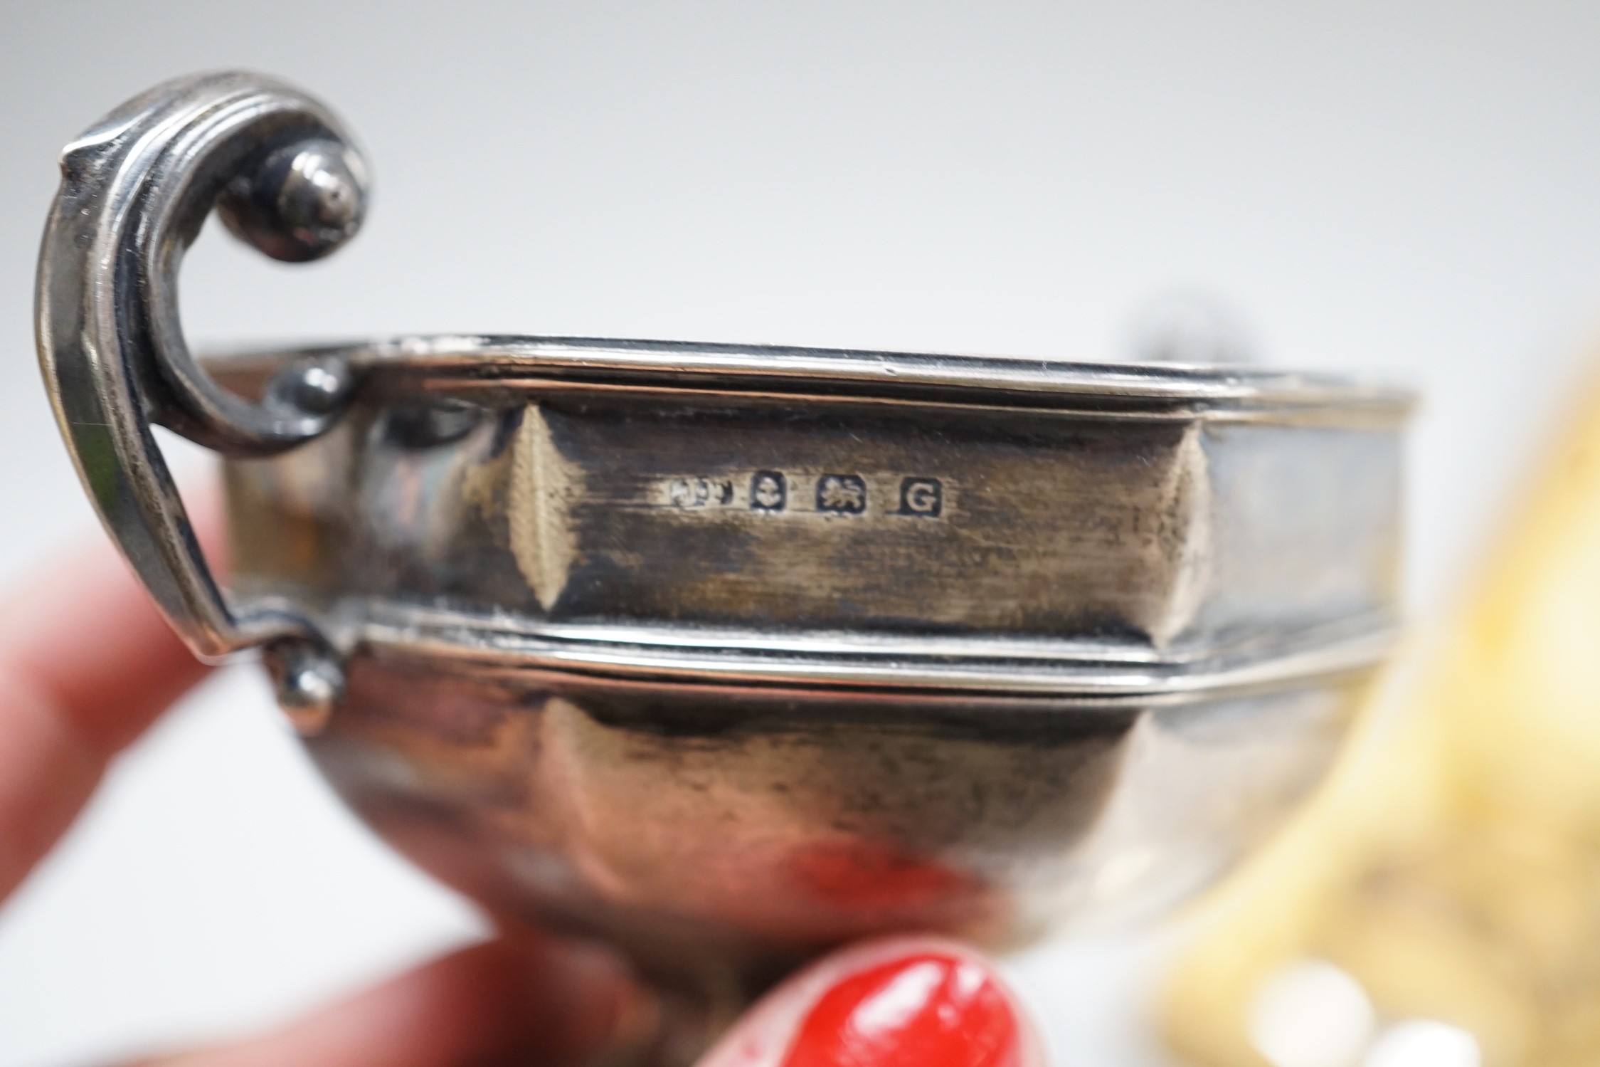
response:
M32 358L56 152L150 83L229 66L342 112L376 202L312 267L202 238L184 275L202 342L472 330L1112 358L1141 306L1200 290L1272 363L1424 390L1424 619L1600 334L1595 5L0 3L3 576L93 522ZM232 670L0 909L0 1067L266 1025L474 931ZM1064 1062L1152 1062L1125 1009L1150 952L1018 963Z

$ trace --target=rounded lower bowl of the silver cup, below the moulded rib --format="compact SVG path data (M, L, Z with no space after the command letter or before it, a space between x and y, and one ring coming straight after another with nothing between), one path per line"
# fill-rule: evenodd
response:
M1173 904L1320 779L1360 672L1197 699L619 681L368 645L310 750L502 921L726 1016L885 931L1010 949Z

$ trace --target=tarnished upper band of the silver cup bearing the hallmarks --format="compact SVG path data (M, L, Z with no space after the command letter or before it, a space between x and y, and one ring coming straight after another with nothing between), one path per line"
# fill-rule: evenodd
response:
M294 358L216 368L251 394ZM338 358L365 382L341 426L230 475L240 582L294 589L333 629L365 600L362 622L752 670L1006 661L1019 681L1037 661L1138 691L1390 622L1403 405L1384 394L602 341ZM669 360L707 370L661 381Z

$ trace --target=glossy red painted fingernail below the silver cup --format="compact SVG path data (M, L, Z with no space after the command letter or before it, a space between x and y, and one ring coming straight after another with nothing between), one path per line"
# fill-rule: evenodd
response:
M784 1067L1019 1067L1011 1000L979 963L946 952L901 957L829 989Z

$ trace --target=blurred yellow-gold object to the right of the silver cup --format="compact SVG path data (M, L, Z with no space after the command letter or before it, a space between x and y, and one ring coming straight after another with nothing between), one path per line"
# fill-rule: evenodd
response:
M1600 392L1163 1000L1200 1067L1600 1064Z

